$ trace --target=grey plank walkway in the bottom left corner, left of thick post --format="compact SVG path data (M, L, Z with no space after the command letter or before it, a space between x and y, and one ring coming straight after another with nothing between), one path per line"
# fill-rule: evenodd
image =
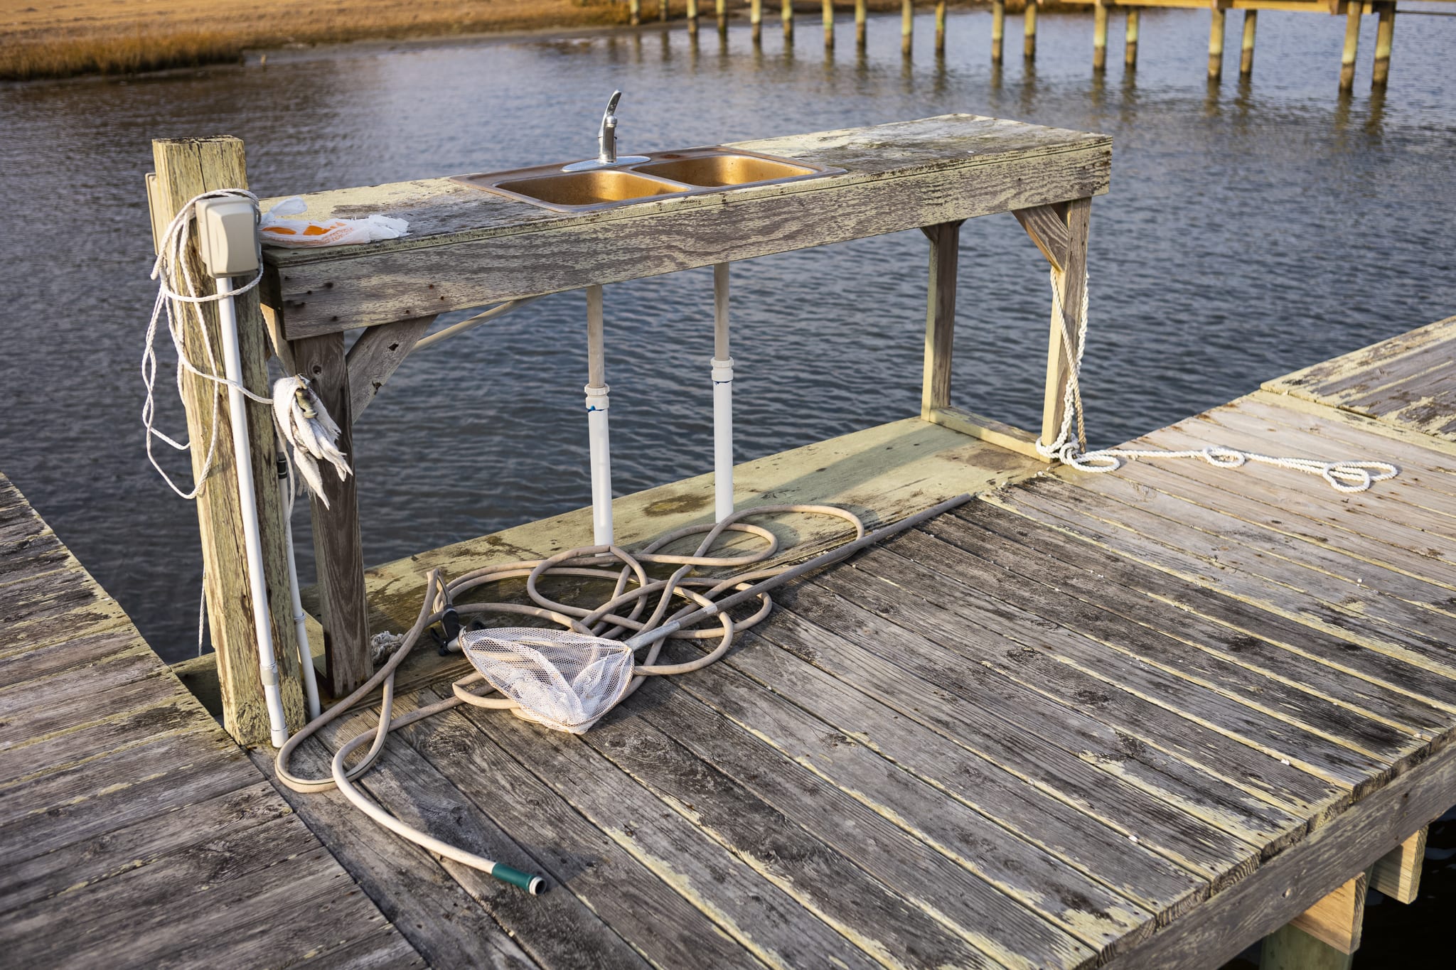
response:
M3 474L0 855L10 966L422 966Z

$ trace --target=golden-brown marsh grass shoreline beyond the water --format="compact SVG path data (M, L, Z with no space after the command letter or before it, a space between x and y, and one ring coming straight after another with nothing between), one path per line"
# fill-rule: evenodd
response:
M668 6L673 19L686 16L686 0ZM697 6L711 25L713 0ZM745 0L728 6L745 16L738 10ZM764 3L766 20L778 22L778 6ZM836 6L853 7L847 0ZM818 7L796 4L801 29L818 29ZM869 0L869 7L898 9L900 0ZM657 17L658 0L642 0L644 22ZM0 80L236 64L259 48L626 22L626 0L0 0Z

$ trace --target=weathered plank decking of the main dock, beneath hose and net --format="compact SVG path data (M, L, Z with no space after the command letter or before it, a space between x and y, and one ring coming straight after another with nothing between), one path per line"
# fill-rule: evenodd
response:
M844 467L773 457L738 481L764 500L853 496L881 521L958 477L980 502L780 590L719 665L649 682L585 736L451 711L399 731L365 788L533 864L569 919L660 966L1213 966L1456 801L1449 442L1268 391L1146 439L1331 444L1411 470L1350 497L1197 461L1028 478L1029 460L986 442L897 451L916 433L872 429L820 446ZM871 439L890 446L878 471ZM708 515L708 494L628 496L619 521L641 541ZM377 618L402 625L425 567L555 551L585 518L543 526L374 570ZM448 673L425 659L399 710ZM427 887L397 884L386 859L418 852L361 836L336 798L293 801L386 913L462 891L523 957L574 966L478 875L431 861Z

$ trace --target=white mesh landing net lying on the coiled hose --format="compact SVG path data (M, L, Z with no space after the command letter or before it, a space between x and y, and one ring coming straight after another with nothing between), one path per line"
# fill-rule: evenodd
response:
M581 734L632 684L632 649L568 630L501 628L460 634L460 647L523 717Z

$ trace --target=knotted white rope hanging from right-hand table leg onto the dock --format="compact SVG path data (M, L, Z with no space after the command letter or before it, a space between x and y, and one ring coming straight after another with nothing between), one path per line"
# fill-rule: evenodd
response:
M1088 286L1082 286L1082 323L1077 327L1076 343L1067 330L1067 317L1061 307L1061 288L1057 285L1057 270L1051 270L1051 313L1057 320L1061 334L1061 348L1067 353L1067 387L1061 397L1061 429L1054 442L1042 444L1037 441L1037 454L1044 458L1056 458L1064 465L1077 471L1102 474L1117 471L1123 461L1137 458L1203 458L1214 468L1238 468L1251 461L1290 468L1306 474L1319 476L1335 492L1364 492L1376 481L1385 481L1401 474L1401 470L1389 461L1322 461L1319 458L1277 458L1261 455L1257 451L1241 451L1223 445L1208 445L1206 448L1190 448L1187 451L1166 451L1160 448L1102 448L1099 451L1085 451L1086 448L1086 419L1082 412L1082 385L1079 375L1082 371L1082 352L1086 349L1088 336ZM1076 417L1077 435L1072 436L1072 420Z

